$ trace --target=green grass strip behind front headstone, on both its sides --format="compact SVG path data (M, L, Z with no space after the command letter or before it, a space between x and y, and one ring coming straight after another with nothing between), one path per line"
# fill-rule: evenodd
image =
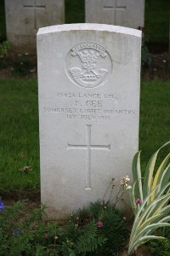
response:
M139 148L143 165L170 139L169 99L169 82L142 83ZM0 102L0 192L39 188L36 79L0 79ZM33 166L33 171L20 172L23 166Z

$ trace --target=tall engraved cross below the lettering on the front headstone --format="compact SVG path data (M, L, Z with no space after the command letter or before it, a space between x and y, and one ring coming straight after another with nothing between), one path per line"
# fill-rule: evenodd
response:
M111 144L109 145L92 145L91 144L91 127L92 125L86 125L86 141L87 143L84 145L75 145L67 143L68 149L86 149L87 150L87 164L86 164L86 171L87 171L87 187L86 190L91 190L91 150L93 149L100 149L100 150L111 150Z

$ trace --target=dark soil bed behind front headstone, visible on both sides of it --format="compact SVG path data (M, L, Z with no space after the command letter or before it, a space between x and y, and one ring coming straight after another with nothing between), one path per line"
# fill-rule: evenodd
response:
M150 65L141 69L141 80L169 80L170 54L167 52L151 54L150 60ZM14 55L14 53L10 53L4 61L4 65L0 65L0 78L11 79L14 77L20 77L20 79L37 78L37 55L28 55L27 53Z

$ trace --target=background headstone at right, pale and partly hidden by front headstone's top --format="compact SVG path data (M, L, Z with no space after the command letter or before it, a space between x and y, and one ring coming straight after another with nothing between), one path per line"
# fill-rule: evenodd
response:
M86 22L144 27L144 0L86 0Z

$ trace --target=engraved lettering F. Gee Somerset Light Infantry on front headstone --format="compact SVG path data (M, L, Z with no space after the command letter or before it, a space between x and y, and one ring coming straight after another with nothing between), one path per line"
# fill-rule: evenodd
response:
M123 119L133 119L137 113L129 106L128 108L120 106L121 98L116 96L114 91L107 93L57 91L56 97L56 103L44 106L43 111L62 115L69 120L110 121L118 116Z

